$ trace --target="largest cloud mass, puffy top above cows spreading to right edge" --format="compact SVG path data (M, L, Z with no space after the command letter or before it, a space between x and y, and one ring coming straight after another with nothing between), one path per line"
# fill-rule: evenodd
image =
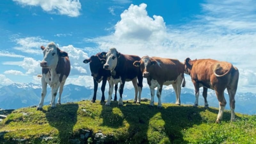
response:
M85 40L97 43L104 51L116 47L123 54L147 54L182 62L187 57L228 61L245 70L240 73L238 91L256 88L251 78L256 71L254 1L207 1L202 4L203 14L185 25L165 25L161 16L149 17L146 7L131 4L121 14L112 34Z

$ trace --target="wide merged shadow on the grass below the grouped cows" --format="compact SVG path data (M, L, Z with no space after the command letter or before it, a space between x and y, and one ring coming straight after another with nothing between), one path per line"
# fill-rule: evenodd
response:
M122 114L117 114L116 111L121 111ZM199 113L202 111L205 109L192 106L164 106L162 109L157 109L156 105L149 107L146 103L140 106L128 103L118 107L117 102L111 102L110 106L102 104L103 122L101 126L117 129L127 127L125 124L127 122L129 124L128 137L136 143L149 143L149 140L154 140L155 138L148 137L148 133L165 133L165 136L169 138L168 141L172 143L188 143L183 140L182 130L201 124L202 118ZM162 132L157 127L161 121L164 121L164 128L160 130ZM118 143L125 141L119 139Z

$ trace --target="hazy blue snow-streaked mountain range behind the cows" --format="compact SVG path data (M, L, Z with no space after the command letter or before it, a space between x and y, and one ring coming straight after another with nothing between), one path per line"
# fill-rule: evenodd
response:
M99 84L101 85L101 84ZM156 91L156 90L155 90ZM181 104L194 104L195 94L193 89L182 88L180 100ZM207 100L209 106L219 107L219 102L216 98L216 94L213 90L208 90ZM229 108L229 97L225 92L225 98L227 101L226 109ZM74 84L67 84L64 86L64 90L61 96L61 103L76 102L81 100L91 100L93 96L92 87L78 86ZM58 97L58 95L57 95ZM56 97L56 102L57 102ZM105 98L108 97L108 88L105 90ZM114 97L114 94L112 95ZM97 91L97 99L101 98L100 88ZM123 100L129 100L134 98L134 89L124 88ZM150 90L148 86L143 87L141 98L150 99ZM32 105L38 105L41 99L41 84L34 83L12 83L8 86L0 87L0 108L1 109L18 109L21 107L28 107ZM117 94L117 99L119 99L119 94ZM162 90L162 103L175 103L175 91L166 87ZM51 88L47 87L47 95L44 100L44 104L47 105L51 100ZM235 96L236 108L235 112L244 114L256 114L256 94L251 92L236 92ZM155 103L158 102L157 97L154 98ZM199 105L204 106L204 98L202 96L202 90L199 96Z

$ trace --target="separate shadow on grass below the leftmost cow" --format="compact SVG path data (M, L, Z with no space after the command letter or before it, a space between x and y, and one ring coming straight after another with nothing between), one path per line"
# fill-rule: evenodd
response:
M68 143L73 133L73 127L77 122L78 104L70 103L57 105L57 108L48 107L45 112L46 119L50 126L55 127L59 131L59 143Z

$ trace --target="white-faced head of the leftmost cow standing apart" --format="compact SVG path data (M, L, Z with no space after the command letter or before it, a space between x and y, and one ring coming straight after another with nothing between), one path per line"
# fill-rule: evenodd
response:
M68 53L61 51L54 42L50 42L46 47L41 46L44 59L41 61L42 68L56 68L59 58L68 56Z

